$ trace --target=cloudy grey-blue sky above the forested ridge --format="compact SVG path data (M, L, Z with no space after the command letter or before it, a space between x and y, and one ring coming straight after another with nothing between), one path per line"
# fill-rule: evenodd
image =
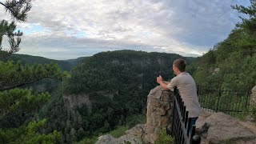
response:
M5 2L0 0L0 2ZM198 57L241 22L231 5L249 0L32 0L21 50L52 59L107 50L142 50ZM0 6L0 20L11 20ZM3 47L8 48L8 38Z

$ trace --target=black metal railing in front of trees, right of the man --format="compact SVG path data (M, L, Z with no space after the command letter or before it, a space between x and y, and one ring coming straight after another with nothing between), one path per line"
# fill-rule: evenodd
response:
M210 112L223 112L230 115L248 110L250 88L248 90L222 90L198 85L198 100L201 107Z

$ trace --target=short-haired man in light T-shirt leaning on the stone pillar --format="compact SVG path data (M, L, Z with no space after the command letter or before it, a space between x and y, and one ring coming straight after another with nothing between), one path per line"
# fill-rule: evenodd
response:
M176 59L173 63L173 70L176 77L172 78L170 82L163 82L162 76L159 75L157 82L162 86L163 90L173 90L174 86L177 86L186 110L189 111L189 118L191 119L190 130L192 130L192 126L195 124L201 112L201 106L198 102L194 79L190 74L186 73L185 69L186 62L183 59Z

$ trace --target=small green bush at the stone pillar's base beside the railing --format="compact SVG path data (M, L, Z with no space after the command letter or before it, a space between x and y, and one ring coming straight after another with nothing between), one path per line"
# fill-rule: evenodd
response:
M174 144L174 138L166 134L166 130L159 130L158 139L154 142L155 144Z

